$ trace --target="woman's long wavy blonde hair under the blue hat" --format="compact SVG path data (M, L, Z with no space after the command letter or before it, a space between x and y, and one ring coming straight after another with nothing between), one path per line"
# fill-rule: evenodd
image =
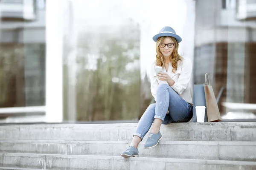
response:
M157 51L157 55L156 55L156 65L157 66L163 66L163 54L160 51L160 47L159 44L164 42L165 38L169 37L169 36L163 36L163 37L159 37L157 39L157 43L156 43L156 51ZM170 62L172 63L172 72L175 73L175 71L177 70L178 67L178 61L182 59L182 57L178 54L178 48L179 48L179 44L177 42L177 40L174 37L170 37L172 39L172 41L174 42L174 49L172 51L172 54L170 56Z

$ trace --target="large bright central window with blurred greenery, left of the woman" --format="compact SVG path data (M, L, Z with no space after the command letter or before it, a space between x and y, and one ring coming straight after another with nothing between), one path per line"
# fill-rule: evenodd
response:
M138 119L140 25L133 11L139 6L97 2L67 3L64 119L73 114L77 121Z

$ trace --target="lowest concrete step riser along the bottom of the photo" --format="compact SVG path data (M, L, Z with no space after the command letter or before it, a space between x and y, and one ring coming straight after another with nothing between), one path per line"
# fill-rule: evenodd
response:
M15 170L255 170L256 162L0 153L0 167Z

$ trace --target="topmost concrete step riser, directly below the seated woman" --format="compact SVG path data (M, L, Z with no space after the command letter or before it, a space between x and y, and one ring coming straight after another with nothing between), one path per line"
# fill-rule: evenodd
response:
M2 125L2 140L131 140L137 123ZM256 122L162 125L166 141L256 141ZM147 138L147 135L145 136Z

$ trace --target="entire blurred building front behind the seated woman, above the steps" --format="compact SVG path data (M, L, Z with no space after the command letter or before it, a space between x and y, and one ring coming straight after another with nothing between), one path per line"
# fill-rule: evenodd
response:
M0 2L0 122L137 121L166 25L183 37L191 83L210 75L223 119L256 119L254 0L100 2Z

